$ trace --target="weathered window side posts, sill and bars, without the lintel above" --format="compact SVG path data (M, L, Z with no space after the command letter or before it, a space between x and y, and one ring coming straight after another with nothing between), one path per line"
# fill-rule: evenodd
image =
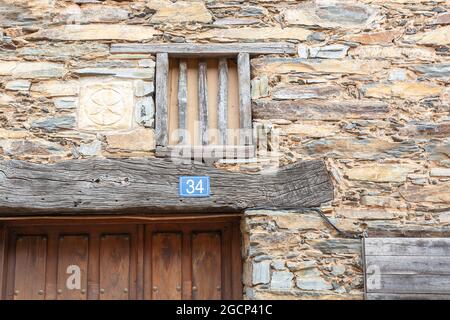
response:
M156 90L155 90L155 108L156 108L156 155L160 157L172 155L174 146L169 145L169 53L157 53L156 54ZM205 58L211 57L209 55ZM200 120L200 142L201 146L191 146L191 152L189 157L195 159L210 158L215 157L223 158L234 155L245 155L245 157L253 158L255 155L255 147L253 144L253 128L252 128L252 114L251 114L251 88L250 88L250 54L241 52L236 53L234 56L237 59L238 68L238 87L239 87L239 143L238 145L227 145L226 135L227 125L226 117L222 118L227 113L227 101L221 100L220 96L223 96L223 88L228 85L228 81L225 80L223 76L219 79L219 101L217 112L219 115L219 138L221 141L225 142L223 145L208 145L207 144L207 129L208 129L208 118L207 118L207 96L206 87L202 86L206 81L206 63L199 63L199 120ZM219 58L219 75L223 75L221 72L221 65L223 65L224 59L227 57L221 56ZM225 63L226 66L226 63ZM180 70L183 68L183 63L180 63ZM203 75L203 77L202 77ZM183 77L183 72L180 73ZM203 81L202 81L203 80ZM202 94L203 93L203 94ZM222 93L222 94L221 94ZM178 92L178 106L179 106L179 129L186 127L186 117L187 117L187 90L183 88ZM184 107L184 109L183 109ZM183 145L183 147L185 147Z

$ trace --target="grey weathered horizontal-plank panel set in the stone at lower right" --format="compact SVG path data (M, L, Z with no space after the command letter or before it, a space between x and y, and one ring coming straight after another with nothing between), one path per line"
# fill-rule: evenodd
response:
M448 238L366 238L364 266L367 299L448 299L450 294Z

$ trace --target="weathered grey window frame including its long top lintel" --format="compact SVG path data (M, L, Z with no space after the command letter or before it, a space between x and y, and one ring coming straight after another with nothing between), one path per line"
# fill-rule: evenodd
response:
M255 156L251 111L250 57L252 55L262 54L295 54L296 48L294 44L287 42L228 44L161 43L115 44L111 46L111 52L147 53L156 55L155 131L156 156L158 157L173 155L173 148L169 146L168 132L169 58L236 58L239 82L240 129L244 129L240 132L239 144L233 146L224 143L223 146L219 146L218 150L216 150L215 146L192 146L190 155L195 159L205 159L205 155L218 154L215 158L219 159L240 154L244 154L246 158L253 158ZM218 109L220 108L223 108L223 104L219 102ZM182 112L181 114L183 115ZM183 121L180 123L183 124ZM220 129L223 130L223 126L220 126L219 124L219 130ZM220 135L223 135L223 131ZM224 141L224 139L221 139L221 141Z

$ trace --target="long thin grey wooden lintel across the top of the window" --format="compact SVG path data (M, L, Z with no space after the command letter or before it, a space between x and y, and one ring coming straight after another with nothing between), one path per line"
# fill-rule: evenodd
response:
M261 43L120 43L111 45L111 53L168 53L171 56L235 56L239 52L256 54L295 54L288 42Z

